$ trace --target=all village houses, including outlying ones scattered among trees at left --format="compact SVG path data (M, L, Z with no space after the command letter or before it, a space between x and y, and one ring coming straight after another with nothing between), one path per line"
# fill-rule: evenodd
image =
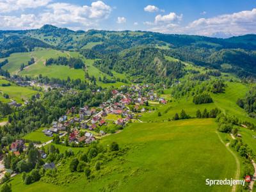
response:
M35 86L35 83L30 86ZM61 94L76 93L76 90L68 90L67 92L61 88L58 90ZM141 122L139 119L141 113L151 113L154 110L154 108L150 108L150 103L167 103L166 99L157 96L152 85L149 84L122 86L120 90L113 89L111 95L111 99L102 102L98 107L84 106L83 108L72 107L68 109L65 115L52 122L51 127L42 130L42 133L49 137L49 141L34 143L35 147L42 148L50 143L56 143L56 138L60 140L59 145L85 147L104 136L108 136L108 134L122 131L128 123ZM40 94L37 94L35 98L40 99ZM15 101L11 105L20 107ZM15 156L20 156L23 151L26 151L26 147L26 141L20 139L13 142L9 149ZM40 156L43 159L47 158L43 150L40 150ZM45 164L45 168L50 166L54 165ZM3 166L0 168L1 177L5 172L10 172L10 170L5 170Z

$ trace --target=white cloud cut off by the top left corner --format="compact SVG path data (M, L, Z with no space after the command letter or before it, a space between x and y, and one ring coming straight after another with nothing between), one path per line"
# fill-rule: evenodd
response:
M46 6L51 0L0 0L0 13Z

